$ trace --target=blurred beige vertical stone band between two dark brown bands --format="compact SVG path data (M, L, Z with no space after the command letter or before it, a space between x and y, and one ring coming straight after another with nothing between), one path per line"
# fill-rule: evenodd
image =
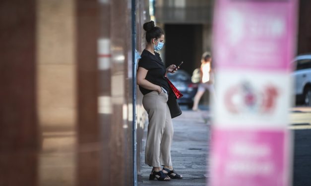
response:
M37 0L39 185L75 185L76 29L74 0Z

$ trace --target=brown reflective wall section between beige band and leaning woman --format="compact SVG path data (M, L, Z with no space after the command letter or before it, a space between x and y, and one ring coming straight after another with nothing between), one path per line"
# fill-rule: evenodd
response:
M76 0L77 183L133 184L130 0Z

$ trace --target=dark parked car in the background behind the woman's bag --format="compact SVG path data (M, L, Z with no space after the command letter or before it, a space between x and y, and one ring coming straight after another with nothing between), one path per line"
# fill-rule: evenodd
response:
M191 82L191 77L184 70L178 70L174 74L168 73L167 77L173 85L184 95L177 101L179 104L186 104L188 108L192 108L193 98L197 91L197 84Z

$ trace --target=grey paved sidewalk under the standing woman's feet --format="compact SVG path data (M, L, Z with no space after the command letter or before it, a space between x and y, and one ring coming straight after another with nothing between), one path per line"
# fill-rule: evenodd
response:
M138 186L206 186L207 155L209 148L209 124L205 123L207 111L183 111L173 119L174 138L171 149L174 169L184 179L169 182L149 181L152 167L144 164L144 151L140 154L141 165L138 173ZM147 129L147 126L145 126ZM142 149L145 149L147 131L145 130Z

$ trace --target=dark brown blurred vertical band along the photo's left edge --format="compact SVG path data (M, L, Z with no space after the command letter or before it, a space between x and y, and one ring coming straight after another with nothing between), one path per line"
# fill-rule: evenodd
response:
M37 186L35 0L1 0L0 17L0 186Z

